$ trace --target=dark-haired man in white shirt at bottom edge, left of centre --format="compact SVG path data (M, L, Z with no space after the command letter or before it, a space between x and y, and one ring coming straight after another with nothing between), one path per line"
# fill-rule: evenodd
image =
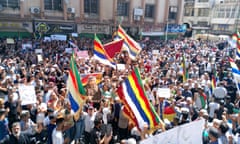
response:
M52 133L52 142L53 144L63 144L64 143L64 138L63 138L64 118L59 117L56 120L56 125L57 126Z

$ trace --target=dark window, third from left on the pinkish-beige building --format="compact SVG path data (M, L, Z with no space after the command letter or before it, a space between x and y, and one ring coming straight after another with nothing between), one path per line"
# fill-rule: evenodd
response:
M84 0L84 13L98 14L99 0Z

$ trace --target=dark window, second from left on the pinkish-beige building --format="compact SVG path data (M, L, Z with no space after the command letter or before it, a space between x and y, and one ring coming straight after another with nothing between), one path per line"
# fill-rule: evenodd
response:
M44 0L45 10L62 10L62 0Z

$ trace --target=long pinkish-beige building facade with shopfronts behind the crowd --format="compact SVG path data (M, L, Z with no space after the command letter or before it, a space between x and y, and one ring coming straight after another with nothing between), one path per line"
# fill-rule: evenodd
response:
M180 24L183 0L0 0L0 31L135 34Z

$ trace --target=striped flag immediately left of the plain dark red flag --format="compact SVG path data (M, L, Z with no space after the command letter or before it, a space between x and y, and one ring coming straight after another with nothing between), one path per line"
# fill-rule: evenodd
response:
M95 35L93 44L94 44L94 49L93 49L94 58L102 64L116 68L116 64L107 55L107 53L105 52L105 50L103 48L101 41L98 39L98 37L96 35Z

